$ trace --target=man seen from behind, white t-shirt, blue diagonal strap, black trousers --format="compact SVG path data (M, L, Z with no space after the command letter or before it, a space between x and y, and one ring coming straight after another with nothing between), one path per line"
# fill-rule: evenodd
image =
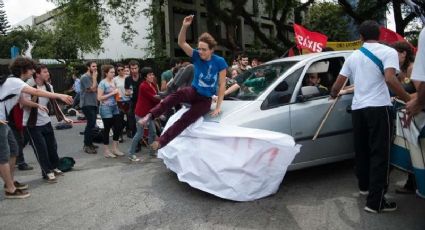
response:
M395 76L399 70L397 51L378 43L378 23L363 22L359 33L364 42L362 48L366 50L354 51L347 58L332 87L331 97L338 96L347 78L355 85L352 122L360 194L368 194L364 210L372 213L394 211L397 204L384 197L392 130L389 90L405 102L410 96Z

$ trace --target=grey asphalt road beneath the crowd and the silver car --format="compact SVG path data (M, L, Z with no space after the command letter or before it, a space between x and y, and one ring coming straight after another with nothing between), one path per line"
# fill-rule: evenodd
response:
M399 209L363 211L352 161L288 172L277 194L253 202L232 202L178 181L160 159L142 150L141 163L82 152L84 125L56 131L60 156L77 164L58 183L47 184L30 147L32 171L15 178L29 183L31 197L4 199L0 229L425 229L425 200L394 193L405 174L394 170L388 197ZM121 145L126 150L130 141Z

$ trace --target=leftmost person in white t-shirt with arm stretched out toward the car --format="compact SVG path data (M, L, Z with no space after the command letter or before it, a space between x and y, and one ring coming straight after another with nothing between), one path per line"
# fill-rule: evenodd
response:
M34 63L31 59L18 57L11 64L14 75L31 77ZM18 72L15 74L15 72ZM30 194L25 191L28 185L13 179L13 166L18 153L18 144L12 130L7 125L11 109L20 101L21 93L40 97L55 98L72 104L72 97L64 94L50 93L28 86L20 78L4 77L0 79L0 176L5 184L5 198L26 198Z

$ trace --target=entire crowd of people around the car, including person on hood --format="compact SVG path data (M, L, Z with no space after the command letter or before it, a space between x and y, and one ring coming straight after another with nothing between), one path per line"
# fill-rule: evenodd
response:
M242 54L229 67L222 57L214 54L217 42L208 33L198 38L197 48L192 48L186 42L186 32L192 21L191 15L184 18L178 36L178 44L191 62L173 59L170 69L157 79L151 67L140 68L135 60L128 65L103 65L100 71L96 62L89 61L81 77L73 76L74 100L54 93L47 66L35 64L29 58L16 58L10 65L11 75L0 79L0 107L3 107L0 109L0 146L5 146L0 148L0 174L5 183L5 197L29 196L28 186L13 178L15 164L22 170L31 169L22 151L28 141L40 164L42 178L55 183L63 174L57 168L58 147L47 105L52 105L58 121L71 123L72 120L66 118L57 100L82 110L87 121L84 152L95 154L98 151L98 146L93 144L92 131L99 114L103 123L104 157L127 154L132 162L140 161L136 152L140 150L141 140L146 141L149 153L155 155L199 117L208 112L211 116L220 114L224 96L241 84L237 76L261 62L254 58L249 64L248 56ZM385 198L393 125L390 92L407 103L410 116L423 109L425 32L420 34L415 64L412 48L407 43L397 42L393 47L378 43L379 25L376 22L363 22L359 32L363 48L345 61L330 95L335 98L347 93L342 89L347 78L354 85L350 92L354 92L352 120L360 194L367 195L366 211L393 211L397 205ZM328 89L320 85L317 74L311 74L307 80L307 85L328 93ZM213 102L215 107L211 111ZM182 103L189 106L188 110L161 132L158 119L169 116L172 108ZM110 147L111 129L113 142ZM127 151L119 148L124 129L132 141ZM412 191L414 186L414 177L409 175L400 192Z

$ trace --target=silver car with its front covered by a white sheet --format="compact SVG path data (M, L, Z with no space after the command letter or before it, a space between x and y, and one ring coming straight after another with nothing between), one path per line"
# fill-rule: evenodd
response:
M217 122L286 133L302 145L289 169L340 161L354 156L353 95L341 97L319 137L312 137L332 103L329 91L351 51L282 58L252 68L236 79L239 89L226 96ZM308 83L310 75L320 86ZM326 90L327 88L327 90Z

